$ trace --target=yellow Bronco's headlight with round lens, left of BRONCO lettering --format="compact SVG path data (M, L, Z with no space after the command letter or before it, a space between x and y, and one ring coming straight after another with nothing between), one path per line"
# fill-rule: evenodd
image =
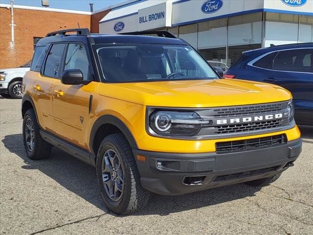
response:
M155 111L149 117L149 131L164 136L194 136L210 122L195 112Z

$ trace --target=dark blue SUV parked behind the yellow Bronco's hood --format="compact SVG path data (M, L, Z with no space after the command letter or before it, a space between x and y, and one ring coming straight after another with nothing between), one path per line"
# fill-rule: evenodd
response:
M286 88L293 96L296 122L313 125L313 43L245 51L224 77Z

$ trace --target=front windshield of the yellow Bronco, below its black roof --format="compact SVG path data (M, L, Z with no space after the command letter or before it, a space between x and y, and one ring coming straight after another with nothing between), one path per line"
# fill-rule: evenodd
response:
M112 83L219 78L189 46L98 46L97 53L103 75Z

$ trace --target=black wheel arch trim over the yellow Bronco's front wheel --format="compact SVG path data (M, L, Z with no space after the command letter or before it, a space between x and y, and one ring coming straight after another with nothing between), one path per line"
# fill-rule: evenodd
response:
M95 152L96 150L95 143L97 141L96 140L97 133L101 129L102 126L107 125L107 124L115 126L126 137L126 139L128 140L132 148L138 148L133 134L131 133L129 128L121 119L113 115L103 115L94 122L91 132L90 132L89 146L94 156L97 156L97 153Z

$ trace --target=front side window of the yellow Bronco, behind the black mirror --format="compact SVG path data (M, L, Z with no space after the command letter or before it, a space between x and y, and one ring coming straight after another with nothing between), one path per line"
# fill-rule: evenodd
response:
M69 44L67 48L64 70L75 69L82 71L84 80L89 80L89 61L86 48L83 44Z

